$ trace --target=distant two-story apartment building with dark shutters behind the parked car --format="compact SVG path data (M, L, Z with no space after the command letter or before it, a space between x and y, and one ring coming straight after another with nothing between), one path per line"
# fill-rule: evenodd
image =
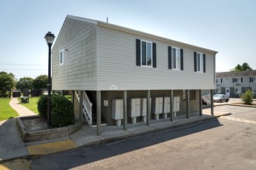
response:
M236 97L247 89L256 92L256 70L216 73L216 93Z

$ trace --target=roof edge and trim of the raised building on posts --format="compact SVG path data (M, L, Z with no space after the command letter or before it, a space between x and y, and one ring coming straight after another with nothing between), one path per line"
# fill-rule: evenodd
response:
M189 47L189 48L192 48L192 49L199 49L201 51L205 51L206 53L213 53L213 54L218 53L217 51L214 51L212 49L206 49L206 48L202 48L202 47L199 47L199 46L193 46L191 44L187 44L187 43L184 43L184 42L178 42L178 41L175 41L175 40L172 40L172 39L167 39L167 38L164 38L164 37L161 37L161 36L154 36L154 35L146 33L146 32L140 32L140 31L137 31L137 30L134 30L134 29L128 29L128 28L125 28L125 27L122 27L122 26L116 26L116 25L113 25L113 24L110 24L110 23L107 23L107 22L101 22L101 21L97 21L97 20L93 20L93 19L85 19L85 18L82 18L82 17L74 16L74 15L67 15L67 17L64 21L64 24L61 27L61 31L59 32L59 34L57 36L57 39L58 39L59 35L61 34L62 29L63 29L67 19L77 19L77 20L80 20L80 21L83 21L83 22L90 22L90 23L98 25L102 28L112 29L112 30L116 30L116 31L119 31L119 32L126 32L126 33L130 33L130 34L133 34L133 35L136 35L136 36L143 36L143 37L146 37L148 39L155 39L155 40L158 40L158 41L161 41L161 42L167 42L167 43L175 44L177 46L186 46L186 47ZM56 42L57 42L57 39L56 39ZM55 46L55 43L54 43L54 46ZM54 49L54 47L53 47L53 49Z

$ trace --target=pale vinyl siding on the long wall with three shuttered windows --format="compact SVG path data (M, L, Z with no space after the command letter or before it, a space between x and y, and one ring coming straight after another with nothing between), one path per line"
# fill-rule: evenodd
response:
M180 90L214 89L214 56L206 53L208 72L198 76L194 70L194 51L185 46L183 49L184 71L168 70L168 46L177 46L170 42L146 39L157 44L157 68L136 66L136 39L125 32L99 27L99 89L109 90ZM124 64L125 63L125 64Z

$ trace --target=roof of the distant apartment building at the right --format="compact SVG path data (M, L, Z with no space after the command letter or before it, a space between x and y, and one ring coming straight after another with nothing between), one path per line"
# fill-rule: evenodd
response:
M256 76L256 70L247 70L247 71L230 71L230 72L220 72L216 73L216 78L219 77L236 77L236 76Z

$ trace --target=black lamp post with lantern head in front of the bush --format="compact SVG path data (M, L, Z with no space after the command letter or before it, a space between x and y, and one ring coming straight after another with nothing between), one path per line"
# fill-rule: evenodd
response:
M51 45L53 45L54 42L54 34L51 32L48 32L47 35L44 36L44 39L47 41L47 45L49 47L49 55L48 55L48 97L47 97L47 125L50 126L50 91L51 91L51 80L50 80L50 69L51 69L51 59L50 59L50 54L51 54Z

